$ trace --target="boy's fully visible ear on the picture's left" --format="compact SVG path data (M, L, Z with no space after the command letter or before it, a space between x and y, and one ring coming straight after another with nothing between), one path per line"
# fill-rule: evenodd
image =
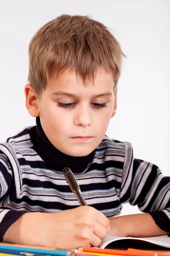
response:
M24 92L26 96L26 109L28 110L29 114L34 117L40 116L38 105L39 101L36 93L34 93L34 90L31 87L31 84L26 84Z

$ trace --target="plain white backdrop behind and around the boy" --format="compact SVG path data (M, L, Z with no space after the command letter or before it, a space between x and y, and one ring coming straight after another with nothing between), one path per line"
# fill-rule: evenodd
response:
M0 0L0 142L35 125L25 107L28 44L61 14L90 15L112 30L127 59L107 135L170 175L170 1ZM126 204L122 215L138 213Z

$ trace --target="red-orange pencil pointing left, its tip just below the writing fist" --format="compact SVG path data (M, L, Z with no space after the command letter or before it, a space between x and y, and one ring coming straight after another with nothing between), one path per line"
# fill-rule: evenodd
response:
M82 247L78 250L86 253L102 253L102 254L114 254L114 255L125 255L125 256L158 256L158 253L153 252L132 252L127 250L112 250L112 249L100 249L93 247Z

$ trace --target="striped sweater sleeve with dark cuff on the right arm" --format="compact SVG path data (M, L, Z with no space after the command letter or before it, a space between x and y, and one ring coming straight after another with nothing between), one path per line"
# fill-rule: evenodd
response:
M170 177L164 177L158 166L133 157L130 143L125 143L120 200L138 205L150 213L156 224L170 233Z

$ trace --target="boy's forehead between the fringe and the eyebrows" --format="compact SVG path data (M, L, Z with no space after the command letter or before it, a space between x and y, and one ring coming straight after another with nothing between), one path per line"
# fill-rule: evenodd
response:
M82 77L76 74L74 70L65 70L58 76L54 73L48 81L47 90L51 93L57 90L65 90L74 93L88 91L96 93L97 91L113 91L113 86L113 74L111 72L107 73L104 69L97 70L94 82L92 77L84 82Z

